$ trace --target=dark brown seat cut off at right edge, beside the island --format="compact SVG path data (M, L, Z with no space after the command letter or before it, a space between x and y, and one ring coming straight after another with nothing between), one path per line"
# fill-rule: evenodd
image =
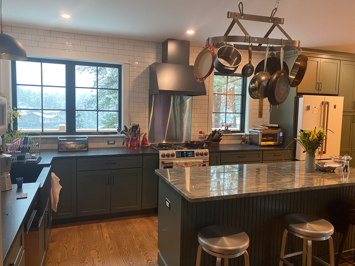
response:
M344 260L355 266L355 256L353 261L349 261L342 257L346 237L348 237L350 225L355 225L355 199L341 199L333 201L328 205L329 221L334 226L335 231L343 234L342 242L340 242L335 266L339 265L340 260Z

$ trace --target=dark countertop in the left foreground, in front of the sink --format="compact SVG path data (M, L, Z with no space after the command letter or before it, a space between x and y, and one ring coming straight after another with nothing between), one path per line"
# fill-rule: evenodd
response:
M33 199L37 196L40 183L24 183L22 188L12 185L12 189L1 192L1 233L2 233L2 260L4 261L13 239L24 218L27 217ZM16 195L27 193L27 199L16 199Z

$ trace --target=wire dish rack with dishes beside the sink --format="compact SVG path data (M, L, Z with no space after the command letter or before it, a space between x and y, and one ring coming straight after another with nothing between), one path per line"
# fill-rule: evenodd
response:
M39 152L40 133L5 133L4 137L7 154L12 155L11 164L37 164L42 159ZM28 138L28 144L22 144L25 137ZM17 142L13 143L16 139Z

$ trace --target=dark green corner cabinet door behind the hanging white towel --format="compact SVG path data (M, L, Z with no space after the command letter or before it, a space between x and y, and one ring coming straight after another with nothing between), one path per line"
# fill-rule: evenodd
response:
M52 172L62 186L53 219L76 217L76 159L53 160Z

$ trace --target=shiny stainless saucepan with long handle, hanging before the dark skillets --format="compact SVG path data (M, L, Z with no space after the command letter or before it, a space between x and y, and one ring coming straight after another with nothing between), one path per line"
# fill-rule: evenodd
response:
M269 46L266 48L264 71L256 73L249 83L249 95L253 99L260 100L267 97L268 83L271 78L271 75L266 71L268 52Z

